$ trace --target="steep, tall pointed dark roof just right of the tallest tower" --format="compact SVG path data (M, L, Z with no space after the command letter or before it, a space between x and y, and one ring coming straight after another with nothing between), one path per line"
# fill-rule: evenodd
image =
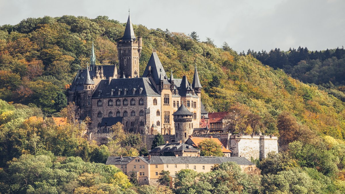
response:
M158 55L156 52L152 52L151 57L149 59L149 62L146 65L146 68L144 70L144 73L142 74L142 77L147 77L149 72L149 66L151 66L151 76L155 80L155 83L157 85L160 85L160 75L162 74L162 77L167 77L165 70L162 66L162 63L160 62Z

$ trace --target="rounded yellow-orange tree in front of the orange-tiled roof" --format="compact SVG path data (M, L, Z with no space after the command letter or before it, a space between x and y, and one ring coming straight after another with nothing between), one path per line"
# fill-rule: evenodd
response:
M201 156L223 156L221 151L221 146L215 142L213 139L204 139L199 144L198 147L201 149Z

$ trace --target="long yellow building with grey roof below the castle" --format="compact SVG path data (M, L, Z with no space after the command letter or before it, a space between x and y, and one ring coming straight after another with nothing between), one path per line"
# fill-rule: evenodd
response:
M247 174L260 174L255 164L244 157L184 157L184 156L147 156L147 157L108 157L107 165L115 165L127 176L134 173L139 184L158 184L159 173L169 171L171 177L181 169L193 169L196 172L209 172L216 164L236 162Z

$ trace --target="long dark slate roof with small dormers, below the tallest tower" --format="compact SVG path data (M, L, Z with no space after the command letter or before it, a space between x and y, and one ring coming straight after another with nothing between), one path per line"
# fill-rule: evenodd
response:
M133 88L134 94L133 94ZM118 92L120 90L120 95ZM125 95L126 90L126 95ZM140 90L141 94L140 94ZM113 91L113 95L111 95ZM129 97L129 96L160 96L156 88L152 85L149 78L124 78L111 79L110 84L108 79L101 80L92 95L92 98L107 98L107 97Z

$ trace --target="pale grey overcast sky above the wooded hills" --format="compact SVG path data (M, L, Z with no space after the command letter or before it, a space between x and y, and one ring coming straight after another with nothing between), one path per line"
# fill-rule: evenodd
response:
M345 0L0 0L0 25L43 16L108 16L171 32L196 31L236 51L345 46Z

